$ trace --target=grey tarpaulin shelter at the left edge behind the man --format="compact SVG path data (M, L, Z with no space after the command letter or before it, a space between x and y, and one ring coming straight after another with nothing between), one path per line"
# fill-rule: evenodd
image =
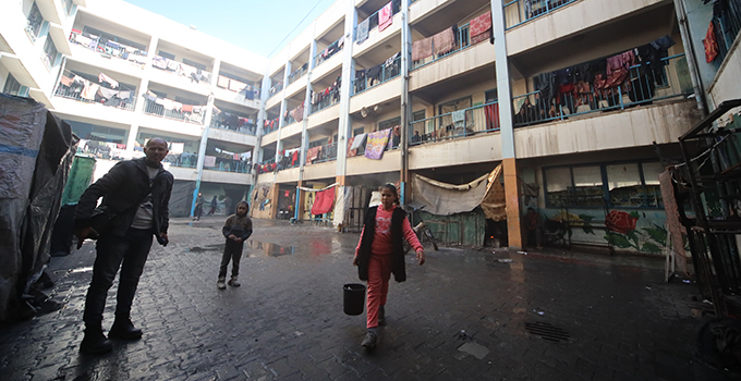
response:
M31 98L0 94L0 321L49 260L51 231L78 138Z

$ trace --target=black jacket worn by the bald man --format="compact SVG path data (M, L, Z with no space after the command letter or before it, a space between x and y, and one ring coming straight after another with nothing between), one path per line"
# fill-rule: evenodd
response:
M151 204L154 206L155 229L157 233L166 233L169 228L170 192L173 183L172 173L162 165L151 183ZM138 204L149 193L149 173L144 159L120 161L100 180L90 185L80 197L75 209L75 228L88 228L90 217L96 208L98 198L102 197L101 206L117 213L111 234L123 236L134 216ZM134 207L134 205L137 205Z

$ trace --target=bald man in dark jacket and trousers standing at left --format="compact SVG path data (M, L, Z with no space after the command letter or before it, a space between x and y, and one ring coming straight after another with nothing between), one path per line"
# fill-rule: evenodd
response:
M130 319L131 305L139 276L144 271L151 248L153 235L162 246L168 244L170 192L172 174L161 161L168 153L163 139L150 139L144 148L143 159L117 163L105 176L90 185L81 196L75 210L75 235L77 248L87 237L98 237L97 256L93 266L93 281L85 300L85 337L80 349L102 354L112 349L112 343L102 333L102 311L108 290L121 268L117 296L116 320L109 337L137 340L142 330L134 328ZM98 198L109 211L106 232L90 226ZM123 262L123 265L122 265Z

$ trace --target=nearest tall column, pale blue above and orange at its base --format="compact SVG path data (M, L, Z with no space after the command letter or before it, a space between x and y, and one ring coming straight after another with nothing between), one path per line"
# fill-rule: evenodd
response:
M495 70L497 96L499 97L499 125L501 126L501 152L507 201L507 230L509 246L522 248L520 228L520 186L514 152L514 125L512 123L512 90L510 87L507 39L505 38L505 4L502 0L491 1L491 25L494 29Z

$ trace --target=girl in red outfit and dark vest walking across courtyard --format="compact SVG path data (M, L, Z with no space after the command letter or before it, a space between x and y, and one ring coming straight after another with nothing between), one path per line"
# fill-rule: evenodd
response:
M391 273L397 282L406 280L404 249L406 239L416 251L420 265L425 262L425 251L406 219L406 213L398 208L399 194L393 184L380 188L380 206L370 207L366 213L361 239L355 248L353 266L357 267L361 281L368 282L367 333L364 347L376 346L378 325L386 324L386 296Z

